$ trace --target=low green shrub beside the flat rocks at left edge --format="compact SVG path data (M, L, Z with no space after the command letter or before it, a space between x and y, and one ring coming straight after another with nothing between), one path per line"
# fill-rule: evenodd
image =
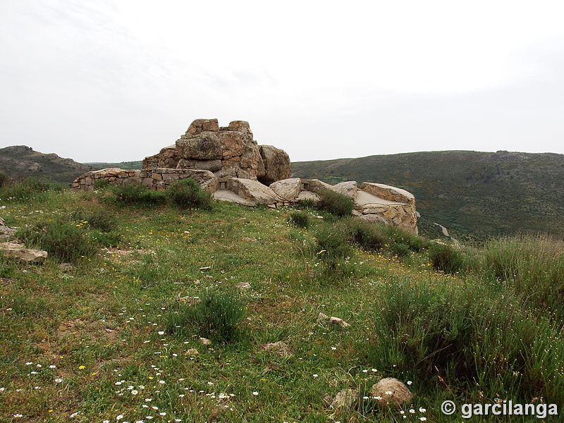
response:
M49 253L60 262L77 263L97 255L97 244L84 229L85 223L48 221L20 229L18 238Z

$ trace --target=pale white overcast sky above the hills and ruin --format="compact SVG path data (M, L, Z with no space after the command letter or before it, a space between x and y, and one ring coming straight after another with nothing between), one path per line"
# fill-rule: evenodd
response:
M0 0L0 147L129 161L197 118L292 161L564 153L559 1Z

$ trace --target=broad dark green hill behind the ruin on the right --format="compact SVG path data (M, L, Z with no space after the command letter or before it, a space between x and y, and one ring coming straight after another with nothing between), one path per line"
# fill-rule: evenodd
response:
M564 237L564 154L417 152L292 163L295 178L376 182L415 195L420 229L460 240L541 231ZM431 235L431 236L432 236Z

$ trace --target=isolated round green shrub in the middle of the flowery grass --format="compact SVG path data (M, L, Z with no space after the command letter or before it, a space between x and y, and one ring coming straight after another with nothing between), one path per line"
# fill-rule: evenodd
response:
M239 296L228 290L208 288L200 295L195 305L182 305L178 312L172 312L167 319L168 331L185 336L191 329L198 334L217 341L236 341L243 328L245 303Z

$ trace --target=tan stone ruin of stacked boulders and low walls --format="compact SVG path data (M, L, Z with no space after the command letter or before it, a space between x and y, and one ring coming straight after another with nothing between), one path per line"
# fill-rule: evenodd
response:
M96 180L166 190L184 178L196 180L216 200L250 207L276 208L300 200L317 204L319 190L335 190L353 200L353 215L358 219L417 234L415 197L410 192L379 183L362 183L359 189L355 181L329 185L317 179L291 178L288 154L271 145L257 145L245 121L220 128L217 119L197 119L176 145L143 160L141 170L90 171L75 179L73 190L94 190Z

